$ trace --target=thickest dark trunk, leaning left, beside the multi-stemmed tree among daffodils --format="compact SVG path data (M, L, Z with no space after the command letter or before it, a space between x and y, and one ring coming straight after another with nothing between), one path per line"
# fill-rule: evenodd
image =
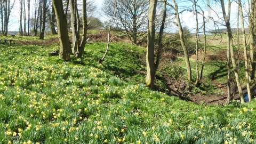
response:
M52 0L58 24L58 35L60 39L60 59L70 61L72 53L69 37L67 15L64 13L62 0Z

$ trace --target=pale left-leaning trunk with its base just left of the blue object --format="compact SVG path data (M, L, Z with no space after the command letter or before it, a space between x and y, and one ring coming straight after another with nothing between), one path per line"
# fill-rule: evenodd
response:
M235 57L234 57L234 47L233 47L233 39L232 39L233 37L232 37L231 26L230 26L230 22L229 22L231 2L230 2L230 0L228 0L228 15L226 14L226 11L225 11L224 1L220 0L220 2L221 2L223 18L225 19L226 28L227 28L227 39L228 39L228 41L227 41L227 53L229 54L229 51L230 51L231 61L232 61L232 64L233 64L233 70L234 70L234 74L235 74L235 77L236 77L237 89L238 89L238 92L239 92L239 96L241 98L241 103L244 103L242 86L241 86L238 71L237 71L236 60L235 60ZM228 55L228 58L229 58L229 55Z

